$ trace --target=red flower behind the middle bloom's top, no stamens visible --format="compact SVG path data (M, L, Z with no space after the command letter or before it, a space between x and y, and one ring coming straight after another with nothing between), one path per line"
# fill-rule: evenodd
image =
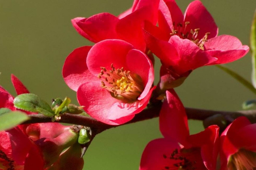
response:
M134 0L133 6L119 17L100 13L89 18L74 18L72 24L79 34L92 42L121 39L145 51L142 24L144 20L157 23L158 4L159 0Z

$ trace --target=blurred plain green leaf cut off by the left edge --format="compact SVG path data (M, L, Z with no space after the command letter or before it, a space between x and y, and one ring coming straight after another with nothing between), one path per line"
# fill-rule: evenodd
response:
M13 111L0 114L0 131L15 127L28 119L29 116L26 113L20 111Z

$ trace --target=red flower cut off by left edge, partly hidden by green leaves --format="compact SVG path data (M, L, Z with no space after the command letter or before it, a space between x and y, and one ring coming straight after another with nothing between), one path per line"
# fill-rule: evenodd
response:
M17 77L12 75L17 94L29 93ZM0 108L15 111L13 96L0 87ZM22 126L20 126L22 128ZM43 170L44 160L38 146L19 127L0 131L0 169Z

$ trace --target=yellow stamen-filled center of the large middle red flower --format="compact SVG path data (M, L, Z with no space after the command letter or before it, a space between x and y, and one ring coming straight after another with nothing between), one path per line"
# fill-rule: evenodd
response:
M143 92L143 81L138 74L131 74L122 67L115 68L111 64L111 70L101 67L98 78L102 81L102 88L111 92L111 96L122 102L130 103L137 100Z

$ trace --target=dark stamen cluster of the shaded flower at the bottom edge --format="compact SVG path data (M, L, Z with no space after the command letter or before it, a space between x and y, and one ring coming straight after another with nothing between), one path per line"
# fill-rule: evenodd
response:
M165 166L164 170L195 170L196 168L194 165L196 164L196 161L187 159L186 156L182 154L183 152L190 152L190 150L181 149L179 153L178 150L175 149L170 156L163 154L164 159L169 159L172 162L170 166Z

